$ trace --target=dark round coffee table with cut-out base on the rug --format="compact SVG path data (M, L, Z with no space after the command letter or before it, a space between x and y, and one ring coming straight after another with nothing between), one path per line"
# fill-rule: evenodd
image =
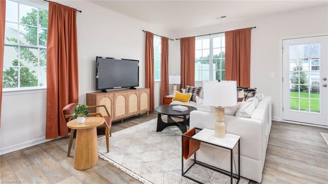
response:
M187 132L187 125L189 126L189 118L187 119L187 115L189 115L191 111L197 110L197 108L186 106L188 110L181 112L173 110L173 106L176 105L165 105L155 108L155 111L158 113L156 132L161 132L165 128L171 126L177 126L182 133ZM161 115L168 115L168 122L164 122ZM172 116L183 116L183 121L175 121L172 119Z

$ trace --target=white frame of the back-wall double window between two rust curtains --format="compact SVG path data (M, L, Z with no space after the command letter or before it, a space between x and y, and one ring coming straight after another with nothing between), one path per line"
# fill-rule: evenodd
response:
M210 58L209 58L209 73L210 73L210 76L209 76L209 80L216 80L216 78L215 78L215 76L214 76L214 74L213 74L213 72L214 72L214 69L213 69L213 60L214 59L220 59L221 60L221 58L213 58L213 49L214 49L214 47L213 47L213 38L216 38L216 37L224 37L224 33L220 33L220 34L214 34L214 35L210 35L210 36L198 36L198 37L196 37L196 40L202 40L202 39L210 39ZM222 40L222 38L221 38L221 40ZM221 41L222 42L222 41ZM222 47L222 43L221 43L221 47L219 47L220 49L221 48L226 48L226 46L224 45L224 47ZM203 48L201 48L201 49L197 49L197 50L203 50ZM195 48L195 51L196 51L196 48ZM208 59L202 59L202 60L208 60ZM225 58L224 58L224 60L225 60ZM196 63L196 58L195 58L195 63ZM220 71L226 71L226 69L221 69L221 63L220 63ZM195 69L196 70L196 69ZM200 71L203 71L203 70L200 70ZM196 72L196 71L195 71ZM202 75L202 74L201 74ZM195 75L196 76L196 75ZM220 77L222 77L222 75L220 76ZM222 79L221 78L221 80L224 80L224 78ZM207 81L207 80L198 80L198 79L196 79L195 78L195 81L196 82L202 82L202 81Z

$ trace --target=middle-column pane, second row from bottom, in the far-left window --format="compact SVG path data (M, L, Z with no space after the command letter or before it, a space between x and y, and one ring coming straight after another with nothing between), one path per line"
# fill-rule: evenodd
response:
M38 66L38 49L20 47L20 66Z

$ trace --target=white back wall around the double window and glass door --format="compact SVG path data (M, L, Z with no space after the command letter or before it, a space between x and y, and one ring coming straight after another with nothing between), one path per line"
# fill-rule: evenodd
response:
M272 96L273 116L280 118L280 38L328 32L328 6L307 8L270 16L175 32L187 37L256 26L251 40L251 87ZM179 46L176 47L179 54ZM170 70L176 70L171 68ZM174 66L175 67L175 66ZM271 78L270 74L274 73ZM177 74L177 73L175 73ZM196 84L201 85L201 84Z

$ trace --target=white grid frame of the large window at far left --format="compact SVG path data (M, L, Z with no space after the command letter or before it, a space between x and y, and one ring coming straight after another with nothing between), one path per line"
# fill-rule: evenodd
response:
M15 2L15 3L18 3L18 4L23 4L23 5L27 5L27 6L32 6L34 8L37 8L37 9L45 9L45 10L48 10L48 3L44 3L44 2L31 2L31 1L24 1L24 0L7 0L7 1L11 1L11 2ZM38 13L37 13L37 18L38 17ZM18 43L5 43L4 46L14 46L14 47L18 47L18 66L17 68L47 68L47 67L40 67L40 66L23 66L21 67L20 66L20 47L29 47L29 48L35 48L35 49L38 49L38 51L40 49L47 49L46 46L41 46L39 45L39 29L48 29L48 28L44 28L44 27L40 27L39 25L37 26L32 26L32 25L27 25L27 26L30 26L30 27L35 27L37 29L37 45L36 46L33 46L33 45L27 45L27 44L20 44L19 43L19 26L20 25L25 25L25 24L22 24L20 23L20 20L19 20L19 5L18 5L18 20L17 20L17 23L15 22L10 22L10 21L5 21L6 23L12 23L12 24L17 24L17 38L18 38ZM39 52L38 52L39 53ZM39 55L38 55L38 65L39 65ZM5 66L4 67L15 67L15 66ZM20 87L20 70L18 70L18 87L17 88L3 88L3 92L4 92L4 96L6 95L15 95L15 94L29 94L29 93L39 93L39 92L46 92L46 89L47 89L47 84L45 84L45 86L39 86L39 83L40 83L40 80L39 80L39 75L38 75L38 86L36 87ZM38 73L39 74L39 73ZM13 93L11 93L13 92Z

